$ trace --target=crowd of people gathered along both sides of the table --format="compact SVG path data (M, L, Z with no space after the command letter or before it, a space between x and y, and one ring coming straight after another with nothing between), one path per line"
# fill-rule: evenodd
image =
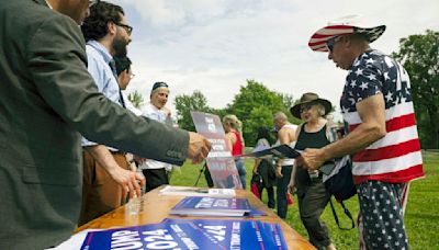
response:
M142 188L169 183L172 164L207 157L206 138L170 126L168 83L153 84L142 111L124 96L134 77L127 57L133 27L122 7L99 0L14 0L0 3L0 15L5 23L0 26L0 249L54 247L77 226L142 195ZM369 46L385 25L356 22L330 23L308 43L348 70L340 99L348 134L329 138L331 103L305 93L290 110L302 124L278 112L275 143L271 129L255 132L257 146L289 145L303 151L301 157L256 159L252 173L261 177L268 206L279 217L286 218L290 191L297 196L309 242L335 249L320 220L330 194L319 167L351 155L360 248L408 249L408 183L424 175L409 77ZM241 155L245 124L228 114L223 126L230 154ZM246 189L244 161L236 158L235 164Z

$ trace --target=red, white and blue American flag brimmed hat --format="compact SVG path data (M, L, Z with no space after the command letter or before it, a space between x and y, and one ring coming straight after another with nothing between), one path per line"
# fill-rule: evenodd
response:
M385 25L371 26L359 15L347 15L330 21L326 27L315 32L308 42L314 52L328 52L328 39L339 35L364 34L369 43L378 39L385 31Z

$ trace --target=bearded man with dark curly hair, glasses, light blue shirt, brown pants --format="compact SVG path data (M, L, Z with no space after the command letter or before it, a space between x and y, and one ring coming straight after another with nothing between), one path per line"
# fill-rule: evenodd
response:
M90 8L90 15L81 25L87 45L88 69L99 91L123 107L116 67L113 57L125 57L131 42L131 27L121 7L100 2ZM82 139L83 185L79 226L106 214L126 203L124 190L116 180L117 174L135 174L144 184L142 174L132 172L125 152L116 148ZM122 169L121 169L122 168ZM112 178L110 178L112 177Z

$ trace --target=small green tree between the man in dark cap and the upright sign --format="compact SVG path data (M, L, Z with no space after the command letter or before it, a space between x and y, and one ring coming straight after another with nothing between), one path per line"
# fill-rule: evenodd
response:
M199 90L193 91L191 95L181 94L177 95L175 100L177 110L177 123L179 127L187 130L195 130L192 122L191 111L211 112L212 109L207 106L207 99Z

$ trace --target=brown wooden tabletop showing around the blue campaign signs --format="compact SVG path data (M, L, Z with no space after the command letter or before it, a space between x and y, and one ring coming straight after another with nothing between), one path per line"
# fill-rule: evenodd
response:
M157 188L146 193L140 198L132 200L128 204L119 207L117 209L110 212L79 228L76 232L85 229L103 229L114 227L130 227L139 226L145 224L157 224L164 218L181 218L178 216L169 215L170 209L179 203L184 196L175 195L159 195ZM259 211L267 213L267 216L257 218L266 223L277 223L282 227L283 236L285 238L289 249L315 249L306 239L299 235L293 228L284 223L278 215L275 215L270 208L268 208L260 200L258 200L250 191L237 190L237 197L248 198L250 205ZM184 217L184 218L200 218L200 217ZM215 217L213 219L216 219ZM234 219L228 217L228 219ZM297 218L299 219L299 218Z

